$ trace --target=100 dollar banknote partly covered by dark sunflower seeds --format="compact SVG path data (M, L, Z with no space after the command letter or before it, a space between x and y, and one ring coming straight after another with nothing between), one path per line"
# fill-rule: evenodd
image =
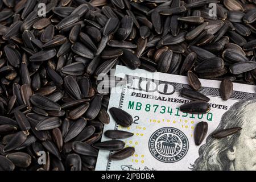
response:
M110 115L106 130L123 130L133 137L122 139L135 153L124 160L109 160L114 151L100 150L96 170L256 170L256 94L254 85L234 83L228 101L220 96L220 81L200 79L200 92L210 98L207 114L188 114L179 107L188 99L180 90L190 88L188 78L165 73L135 71L117 66L115 76L125 84L112 89L109 108L118 107L134 118L122 127ZM194 140L197 123L208 122L208 134L200 146ZM229 137L216 139L216 130L242 127ZM105 136L102 141L109 140Z

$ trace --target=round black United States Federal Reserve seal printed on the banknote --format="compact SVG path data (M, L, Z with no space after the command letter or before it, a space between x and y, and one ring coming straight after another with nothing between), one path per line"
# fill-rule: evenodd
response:
M188 138L174 127L163 127L150 137L148 147L151 154L164 163L175 163L187 154Z

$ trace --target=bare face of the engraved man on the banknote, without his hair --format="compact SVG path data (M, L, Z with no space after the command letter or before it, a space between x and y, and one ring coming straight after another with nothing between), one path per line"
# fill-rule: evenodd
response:
M256 107L246 112L240 137L227 156L231 170L256 170Z

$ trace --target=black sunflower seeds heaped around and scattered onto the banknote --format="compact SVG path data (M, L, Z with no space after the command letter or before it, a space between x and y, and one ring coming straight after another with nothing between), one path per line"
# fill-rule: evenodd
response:
M99 142L109 123L109 94L97 90L97 77L117 64L188 76L197 91L198 78L222 80L223 100L232 82L255 84L255 3L0 0L0 170L93 170L98 149L117 150L111 160L133 155L134 148L116 140L131 133L106 131L114 140ZM207 97L182 94L196 100L183 111L209 111ZM121 109L110 113L124 127L133 122ZM196 144L207 129L204 122L196 127Z

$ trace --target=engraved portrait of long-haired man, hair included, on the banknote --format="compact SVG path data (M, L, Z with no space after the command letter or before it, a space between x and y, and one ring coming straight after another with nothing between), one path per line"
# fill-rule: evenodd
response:
M224 115L216 131L241 127L238 133L216 139L209 135L199 148L193 170L256 170L256 98L234 104Z

